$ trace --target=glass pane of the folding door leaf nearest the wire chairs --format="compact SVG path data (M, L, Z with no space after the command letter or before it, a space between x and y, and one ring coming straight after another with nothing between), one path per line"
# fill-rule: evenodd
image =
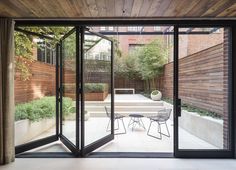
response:
M84 44L85 145L111 133L111 42L85 32ZM107 113L105 110L107 108Z

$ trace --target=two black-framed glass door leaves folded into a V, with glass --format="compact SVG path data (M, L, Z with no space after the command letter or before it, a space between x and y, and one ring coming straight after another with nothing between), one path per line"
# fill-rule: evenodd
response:
M84 156L114 138L112 43L85 27L73 28L60 41L60 139L75 154ZM103 97L99 92L110 98L94 101Z

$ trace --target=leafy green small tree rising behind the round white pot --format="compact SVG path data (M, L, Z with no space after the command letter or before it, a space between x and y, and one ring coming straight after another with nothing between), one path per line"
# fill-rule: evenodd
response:
M163 41L156 39L149 44L139 47L136 52L139 73L148 83L148 90L155 86L154 78L163 73L163 66L167 63L168 48Z

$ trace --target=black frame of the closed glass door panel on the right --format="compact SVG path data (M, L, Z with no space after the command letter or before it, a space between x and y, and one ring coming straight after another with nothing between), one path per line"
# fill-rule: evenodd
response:
M228 54L228 124L229 139L233 142L233 84L232 84L232 26L218 26L229 29L229 54ZM229 149L179 149L179 117L181 117L181 99L179 98L179 28L212 27L209 25L175 25L174 26L174 156L179 158L232 158L234 156L233 143Z

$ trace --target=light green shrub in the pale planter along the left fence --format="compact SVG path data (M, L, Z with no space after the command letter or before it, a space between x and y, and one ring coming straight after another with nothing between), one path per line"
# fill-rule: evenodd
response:
M73 102L71 98L63 98L63 113L70 114ZM18 104L15 109L15 120L29 119L39 121L41 119L53 118L56 115L55 96L43 97L28 103Z

